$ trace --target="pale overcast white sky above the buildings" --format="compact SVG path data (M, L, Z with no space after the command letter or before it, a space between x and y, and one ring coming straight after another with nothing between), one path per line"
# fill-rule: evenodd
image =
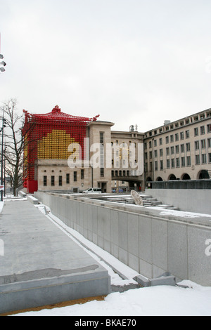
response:
M211 107L211 0L0 0L0 101L148 131Z

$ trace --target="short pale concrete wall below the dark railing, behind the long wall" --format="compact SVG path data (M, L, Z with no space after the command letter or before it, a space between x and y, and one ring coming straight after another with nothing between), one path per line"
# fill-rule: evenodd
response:
M147 189L146 194L181 211L211 214L210 189Z

